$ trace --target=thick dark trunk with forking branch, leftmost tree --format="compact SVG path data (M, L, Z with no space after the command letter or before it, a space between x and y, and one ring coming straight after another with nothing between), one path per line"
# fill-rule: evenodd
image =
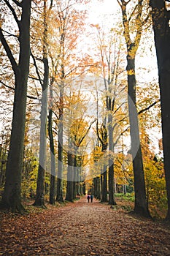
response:
M30 15L31 0L18 2L22 9L20 20L15 20L19 28L20 54L19 64L12 56L12 52L0 28L0 39L7 52L9 61L15 74L15 97L12 116L12 132L7 159L6 181L2 206L12 211L22 212L24 210L20 198L21 173L23 169L23 143L26 122L26 94L30 60ZM15 12L15 11L14 11Z

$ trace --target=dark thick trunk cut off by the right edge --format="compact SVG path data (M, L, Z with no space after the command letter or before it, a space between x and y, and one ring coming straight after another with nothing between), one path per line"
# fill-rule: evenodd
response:
M150 0L152 7L152 27L158 60L158 76L161 95L161 119L163 135L163 162L166 178L168 212L170 221L170 12L166 10L165 1Z

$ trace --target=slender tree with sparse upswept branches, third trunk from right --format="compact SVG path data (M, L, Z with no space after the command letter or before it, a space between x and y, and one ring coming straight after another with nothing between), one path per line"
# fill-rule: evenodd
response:
M107 131L108 131L108 165L109 165L109 204L115 205L114 195L114 137L115 127L114 117L117 110L115 110L115 102L117 101L117 95L123 93L122 80L119 81L119 75L123 72L120 67L120 39L115 36L116 32L111 29L106 37L106 32L101 31L101 28L95 26L98 31L98 49L100 52L100 59L98 61L101 68L101 75L104 78L104 97L105 106L107 109ZM118 34L116 34L118 36ZM120 106L118 107L120 108Z

